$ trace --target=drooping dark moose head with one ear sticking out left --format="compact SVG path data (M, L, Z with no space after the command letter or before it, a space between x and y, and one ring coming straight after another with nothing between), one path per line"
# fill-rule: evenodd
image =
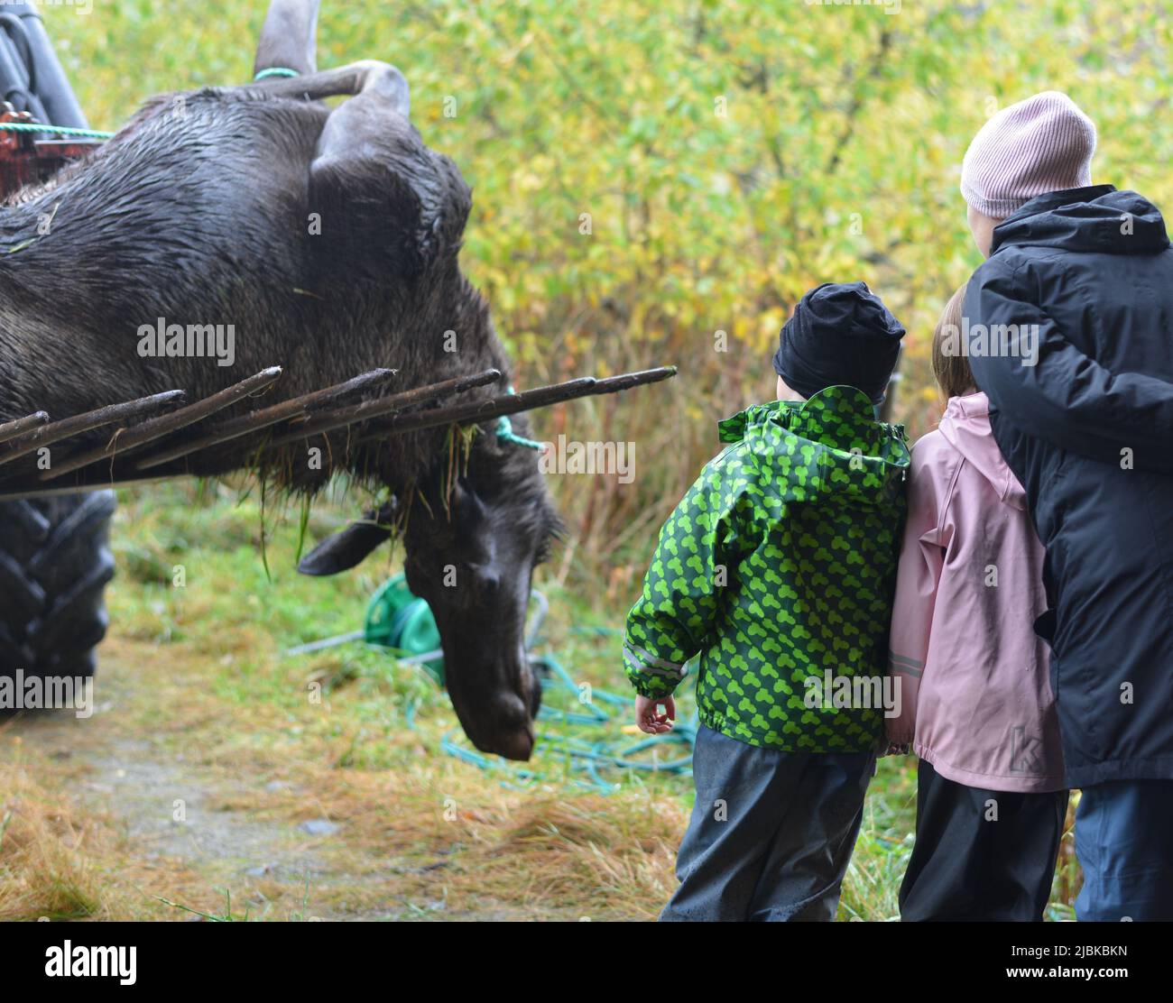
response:
M520 427L526 429L526 425ZM323 541L303 574L354 567L402 527L405 571L440 631L445 682L456 717L482 752L529 759L541 684L526 653L534 569L560 520L533 452L477 435L460 473L436 463L406 501Z

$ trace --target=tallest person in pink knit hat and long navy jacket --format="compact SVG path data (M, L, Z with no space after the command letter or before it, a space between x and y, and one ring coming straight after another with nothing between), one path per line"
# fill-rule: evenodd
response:
M1094 143L1053 92L978 133L963 340L1046 548L1078 915L1171 920L1173 250L1152 203L1091 187Z

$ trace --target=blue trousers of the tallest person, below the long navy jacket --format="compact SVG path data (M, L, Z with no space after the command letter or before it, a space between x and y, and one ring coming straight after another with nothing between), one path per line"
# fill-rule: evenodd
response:
M1173 780L1085 787L1076 812L1080 920L1173 920Z

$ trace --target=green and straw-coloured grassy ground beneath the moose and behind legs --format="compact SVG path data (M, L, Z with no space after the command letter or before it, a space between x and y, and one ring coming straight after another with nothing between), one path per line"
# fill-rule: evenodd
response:
M348 514L317 506L310 537ZM527 784L446 754L455 717L420 670L361 644L282 655L360 626L394 563L301 578L300 513L266 523L271 577L255 496L124 493L97 712L0 725L0 920L653 919L690 779L612 774L603 795L548 746ZM617 638L576 630L622 608L541 587L571 677L622 693ZM883 760L840 919L897 915L914 820L913 760ZM1069 836L1056 919L1076 874Z

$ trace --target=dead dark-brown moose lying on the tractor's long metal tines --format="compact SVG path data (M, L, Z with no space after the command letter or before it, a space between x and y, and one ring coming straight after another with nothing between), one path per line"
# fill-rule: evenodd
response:
M257 55L266 79L156 97L99 153L0 210L0 425L23 436L0 465L35 462L43 480L109 454L113 469L107 412L65 456L35 448L38 432L21 422L130 399L155 407L176 387L222 406L242 374L257 374L244 389L267 387L274 402L379 370L375 384L395 371L392 391L450 380L466 391L453 416L473 422L508 389L488 305L457 260L468 187L409 123L398 69L316 73L317 13L317 0L273 0ZM350 100L321 103L337 95ZM365 401L382 392L347 386ZM226 423L246 408L233 404ZM260 466L313 492L345 470L388 488L465 731L481 750L527 759L540 689L526 609L558 520L533 453L493 434L466 445L445 426L419 412L388 419L384 434L326 420L313 434L311 423L264 442L172 449L162 472ZM357 524L306 570L352 567L386 536Z

